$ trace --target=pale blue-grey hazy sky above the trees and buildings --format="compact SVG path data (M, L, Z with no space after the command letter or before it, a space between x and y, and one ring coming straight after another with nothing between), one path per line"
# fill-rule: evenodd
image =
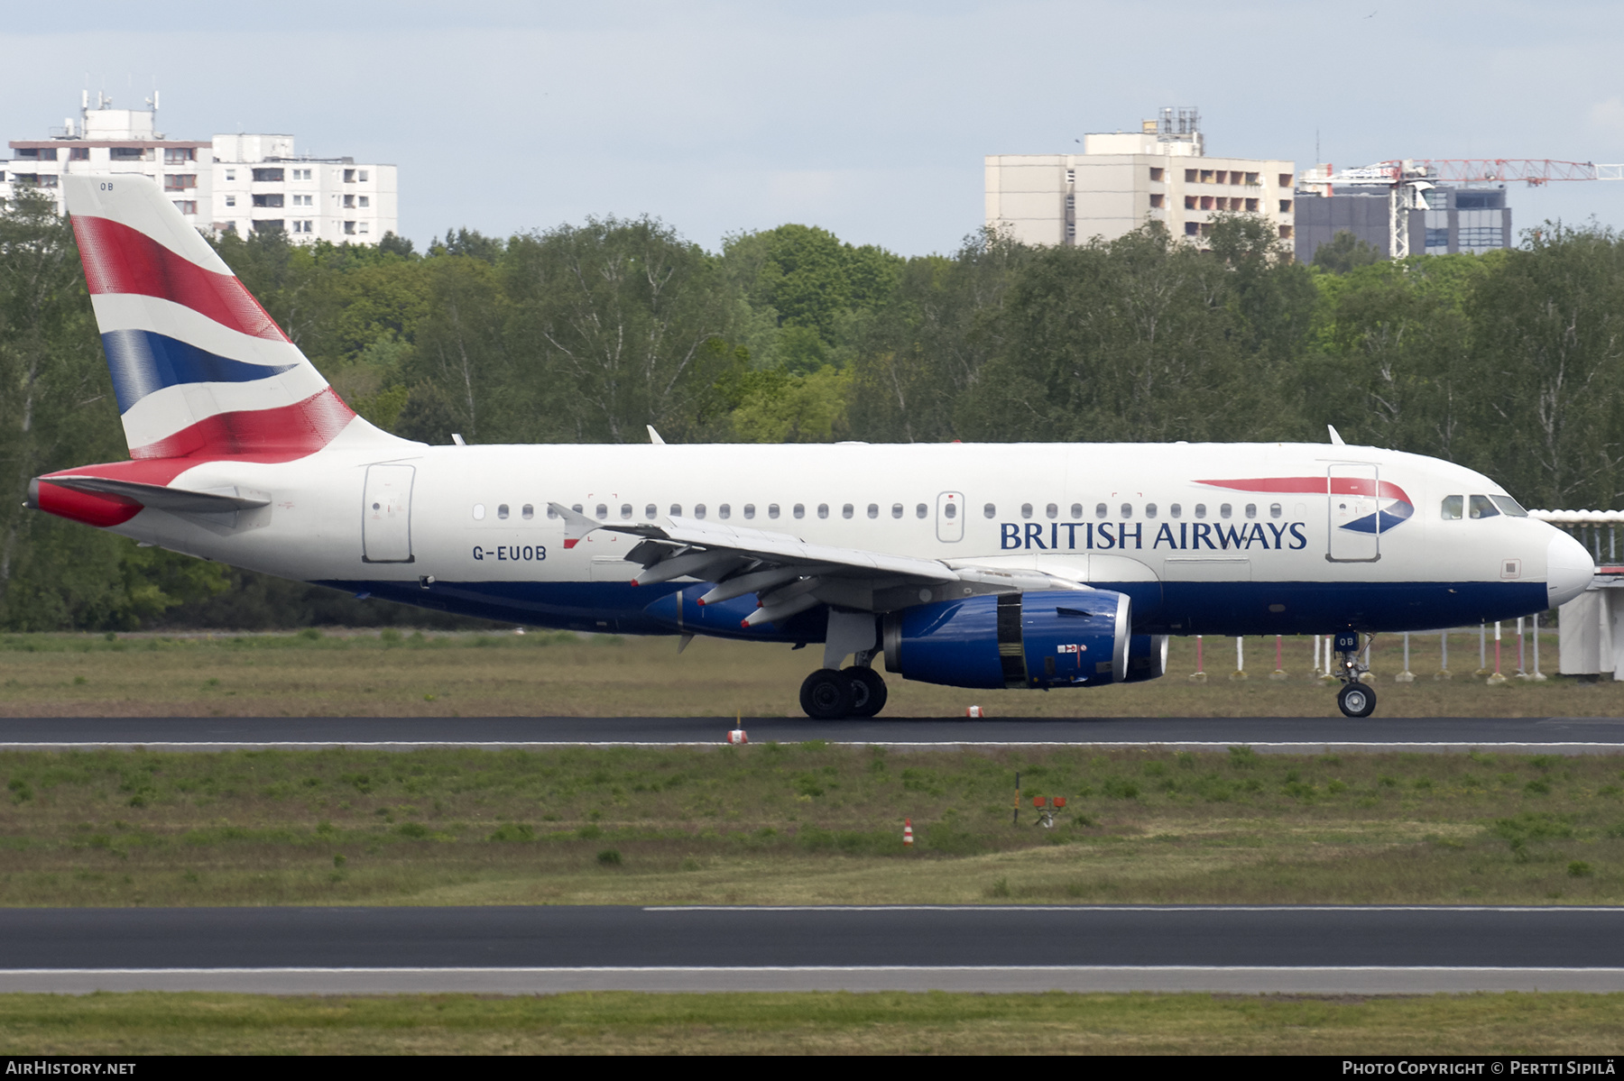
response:
M1298 170L1624 162L1621 45L1616 5L1569 0L81 0L8 6L0 136L156 86L172 138L400 166L419 247L650 214L710 250L802 222L926 255L983 224L984 154L1080 151L1161 106L1199 107L1212 154ZM1624 227L1624 182L1509 201L1517 229Z

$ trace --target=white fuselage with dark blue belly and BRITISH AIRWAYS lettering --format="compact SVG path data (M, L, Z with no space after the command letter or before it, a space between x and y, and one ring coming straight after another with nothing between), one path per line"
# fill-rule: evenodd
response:
M409 467L391 471L382 502L388 471L369 485L375 466ZM1327 493L1327 477L1348 476L1379 489ZM1442 516L1445 497L1504 495L1488 477L1363 446L380 448L339 438L283 464L203 463L172 484L237 487L271 502L232 515L143 510L115 531L395 601L633 633L676 630L645 618L654 597L627 586L638 566L622 555L637 539L599 531L565 549L565 524L549 503L611 523L679 515L825 545L1038 570L1124 589L1135 627L1168 633L1509 618L1583 588L1590 565L1572 539L1530 518ZM1372 515L1379 528L1345 528ZM380 558L367 558L369 544ZM773 628L744 636L773 638Z

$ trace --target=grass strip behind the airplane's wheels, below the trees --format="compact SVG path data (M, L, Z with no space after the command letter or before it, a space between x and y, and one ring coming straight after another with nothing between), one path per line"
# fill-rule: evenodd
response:
M1455 635L1453 680L1432 678L1437 640L1415 638L1415 683L1395 683L1402 643L1377 640L1382 716L1624 716L1624 683L1553 677L1489 687L1473 678L1475 635ZM1543 657L1556 667L1556 636ZM1210 638L1210 682L1190 683L1195 643L1174 638L1169 675L1077 691L970 691L890 677L888 717L1335 716L1311 678L1312 646L1283 646L1286 680L1270 680L1273 640L1246 641L1249 678L1226 678L1234 640ZM1504 643L1515 670L1517 643ZM218 636L0 636L0 717L19 716L801 716L796 691L822 664L818 646L573 633L403 635L395 630ZM1492 665L1492 646L1489 648ZM1531 656L1530 656L1531 667Z

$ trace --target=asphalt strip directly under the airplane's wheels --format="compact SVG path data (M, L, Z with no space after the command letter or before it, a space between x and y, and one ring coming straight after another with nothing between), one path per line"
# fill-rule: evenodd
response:
M1624 717L745 717L739 724L755 743L1624 753ZM11 717L0 719L0 750L710 745L724 742L734 726L734 717Z

